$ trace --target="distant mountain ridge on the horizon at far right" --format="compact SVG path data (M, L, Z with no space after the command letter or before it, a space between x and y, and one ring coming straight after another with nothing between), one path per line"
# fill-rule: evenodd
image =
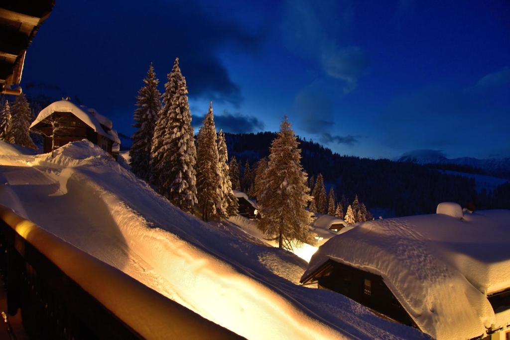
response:
M404 153L398 162L426 164L453 164L484 170L485 174L510 178L510 158L477 159L474 157L447 158L441 151L414 150Z

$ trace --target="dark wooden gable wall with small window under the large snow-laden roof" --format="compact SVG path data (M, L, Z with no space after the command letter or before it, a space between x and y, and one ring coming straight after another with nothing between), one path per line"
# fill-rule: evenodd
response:
M418 328L379 275L328 260L315 271L312 279L320 289L340 293L381 317Z

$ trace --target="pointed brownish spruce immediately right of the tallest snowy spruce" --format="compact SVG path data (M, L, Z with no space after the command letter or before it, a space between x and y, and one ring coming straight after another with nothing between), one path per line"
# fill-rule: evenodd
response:
M196 190L202 220L213 216L226 217L223 206L223 180L219 164L213 103L197 136Z

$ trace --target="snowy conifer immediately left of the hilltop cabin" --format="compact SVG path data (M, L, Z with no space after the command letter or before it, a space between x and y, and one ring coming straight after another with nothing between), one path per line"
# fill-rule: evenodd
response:
M10 129L14 137L13 142L24 147L37 149L29 135L31 116L32 111L29 102L24 94L20 94L11 107Z

